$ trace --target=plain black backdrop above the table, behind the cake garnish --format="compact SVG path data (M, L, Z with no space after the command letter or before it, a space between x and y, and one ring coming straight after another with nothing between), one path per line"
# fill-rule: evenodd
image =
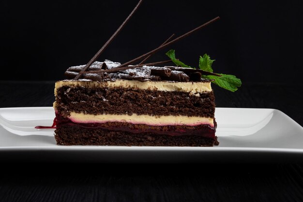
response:
M21 1L1 4L0 80L59 80L86 64L138 0ZM221 19L173 44L149 61L177 58L197 66L207 53L218 73L242 82L299 82L302 75L303 1L144 0L98 59L126 62L208 20Z

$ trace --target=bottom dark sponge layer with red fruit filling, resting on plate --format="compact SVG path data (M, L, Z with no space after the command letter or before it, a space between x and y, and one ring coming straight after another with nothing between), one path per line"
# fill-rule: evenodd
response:
M128 131L83 128L61 125L55 130L57 144L61 145L119 145L119 146L213 146L217 137L197 135L163 135L153 132L132 133Z

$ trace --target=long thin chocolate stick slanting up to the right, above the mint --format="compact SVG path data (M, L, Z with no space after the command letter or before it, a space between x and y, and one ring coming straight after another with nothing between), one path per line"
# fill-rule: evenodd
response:
M200 26L197 27L196 29L193 29L193 30L191 30L191 31L189 31L189 32L186 32L186 33L183 34L182 36L180 36L180 37L178 37L178 38L176 38L176 39L174 39L174 40L172 40L172 41L170 41L170 42L168 42L168 43L166 43L166 44L164 44L164 45L162 45L162 46L160 46L160 47L158 47L158 48L156 48L156 49L153 49L152 51L150 51L150 52L148 52L148 53L143 54L142 56L139 56L139 57L137 57L137 58L135 58L135 59L132 59L132 60L130 60L130 61L128 61L128 62L125 62L124 64L121 64L121 65L118 66L117 68L128 66L128 65L130 65L130 64L132 64L132 63L134 63L134 62L136 62L136 61L138 61L138 60L140 60L140 59L142 59L142 58L145 58L145 57L147 57L147 56L150 56L150 55L152 55L152 54L158 52L159 50L162 50L163 48L166 48L167 46L169 46L169 45L171 45L171 44L173 44L173 43L175 43L175 42L177 42L177 41L179 41L179 40L181 40L181 39L183 39L183 38L185 38L185 37L191 35L191 34L194 33L195 31L197 31L197 30L199 30L199 29L202 29L202 28L208 26L209 24L211 24L211 23L217 21L218 19L220 19L219 16L217 16L217 17L213 18L212 20L210 20L210 21L204 23L203 25L200 25Z

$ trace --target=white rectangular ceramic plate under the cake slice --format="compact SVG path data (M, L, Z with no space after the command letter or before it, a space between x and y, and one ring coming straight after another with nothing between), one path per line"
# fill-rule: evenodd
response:
M0 108L0 160L61 162L303 161L303 127L275 109L216 108L219 146L62 146L52 107Z

